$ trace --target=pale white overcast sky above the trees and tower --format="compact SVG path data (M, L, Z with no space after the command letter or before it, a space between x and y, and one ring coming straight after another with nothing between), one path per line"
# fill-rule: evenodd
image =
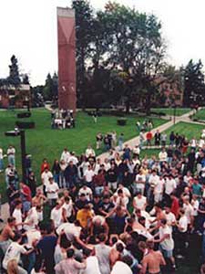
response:
M48 72L57 71L56 6L70 0L1 0L0 78L8 76L10 58L18 58L21 73L28 73L33 86L44 84ZM97 10L108 0L90 0ZM202 0L116 0L153 13L162 23L168 44L168 61L179 67L190 58L205 65L205 2Z

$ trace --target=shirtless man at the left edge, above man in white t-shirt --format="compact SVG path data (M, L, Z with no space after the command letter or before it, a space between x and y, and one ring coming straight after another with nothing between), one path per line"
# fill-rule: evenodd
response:
M7 224L0 234L0 248L4 253L11 244L13 237L15 237L15 217L9 217L7 219Z

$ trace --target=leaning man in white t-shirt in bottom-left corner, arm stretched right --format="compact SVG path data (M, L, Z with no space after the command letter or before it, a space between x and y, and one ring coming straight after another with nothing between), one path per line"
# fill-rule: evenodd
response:
M13 238L14 242L10 244L10 246L7 248L5 252L5 257L3 259L3 268L7 269L8 263L10 260L15 259L17 264L20 262L20 257L22 254L28 255L31 252L33 252L33 248L29 249L29 251L26 250L23 246L20 245L20 242L22 240L21 235L15 234L15 237ZM27 271L23 269L22 267L18 266L18 272L20 274L26 274Z

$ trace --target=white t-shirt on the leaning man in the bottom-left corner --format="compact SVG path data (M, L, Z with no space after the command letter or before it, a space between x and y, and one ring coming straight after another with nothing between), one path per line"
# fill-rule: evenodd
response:
M3 267L4 269L7 269L7 264L9 262L9 260L15 258L17 261L17 264L19 263L20 260L20 255L21 254L25 254L26 248L24 248L23 246L19 245L16 242L11 243L11 245L7 248L6 252L5 252L5 258L3 260Z

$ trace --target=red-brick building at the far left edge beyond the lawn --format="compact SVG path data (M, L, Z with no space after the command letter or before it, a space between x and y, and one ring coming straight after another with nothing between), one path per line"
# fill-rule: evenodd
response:
M14 86L0 87L0 108L24 108L31 105L30 85L22 84L19 88Z

